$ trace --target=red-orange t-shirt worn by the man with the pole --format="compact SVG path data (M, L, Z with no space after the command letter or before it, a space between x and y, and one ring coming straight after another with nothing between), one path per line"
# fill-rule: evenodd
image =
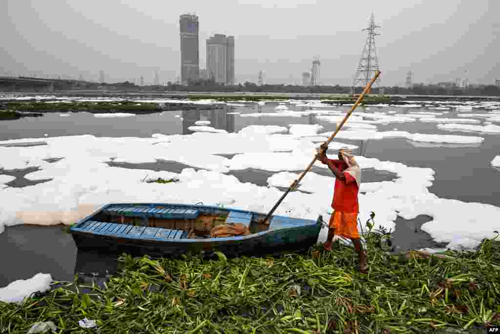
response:
M358 213L359 205L357 203L357 193L359 188L357 186L356 179L354 179L349 173L344 172L344 170L347 169L347 164L345 162L333 159L328 160L330 160L331 163L345 176L344 181L335 178L335 188L333 191L331 208L336 211Z

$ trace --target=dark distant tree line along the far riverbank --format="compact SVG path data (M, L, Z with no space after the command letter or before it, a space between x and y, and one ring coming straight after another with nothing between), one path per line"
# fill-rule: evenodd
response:
M136 86L133 83L124 82L110 84L108 87L115 89L130 89L144 91L178 91L178 92L254 92L254 93L324 93L324 94L350 94L351 87L348 86L299 86L299 85L262 85L246 81L238 85L222 85L213 80L198 80L190 82L189 85L180 85L168 82L166 86ZM363 87L356 87L355 94L361 93ZM387 95L478 95L478 96L500 96L500 87L494 85L476 85L467 88L460 88L448 83L424 85L417 84L411 88L406 87L374 87L372 94Z

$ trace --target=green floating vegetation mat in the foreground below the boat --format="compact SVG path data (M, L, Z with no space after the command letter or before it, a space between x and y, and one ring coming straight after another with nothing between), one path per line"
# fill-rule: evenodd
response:
M87 286L89 293L57 282L21 304L0 302L0 329L26 333L34 322L52 321L57 332L71 333L387 334L483 332L500 324L495 241L430 256L393 255L368 242L367 274L355 270L352 248L334 246L229 259L123 254L118 273L104 286ZM83 318L96 327L80 328Z

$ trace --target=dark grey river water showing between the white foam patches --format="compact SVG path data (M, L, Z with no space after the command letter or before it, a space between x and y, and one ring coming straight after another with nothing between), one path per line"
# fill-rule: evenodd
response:
M172 111L137 115L125 118L96 118L90 113L72 113L61 117L58 113L45 114L37 118L23 118L13 121L0 121L0 140L19 138L43 138L45 136L71 136L92 134L102 137L150 137L154 133L190 134L188 127L199 120L210 121L210 126L227 132L237 132L249 125L319 124L324 127L320 132L333 131L335 124L307 117L240 117L230 113L271 112L277 103L264 107L246 104L244 107L224 106L210 111ZM348 110L348 107L335 107L335 110ZM363 108L360 108L363 109ZM397 111L398 114L421 111L419 108L371 107L363 112ZM428 110L426 110L428 111ZM474 111L475 112L475 111ZM443 117L453 118L456 112L450 111ZM457 199L464 202L479 202L500 206L500 171L490 165L490 161L500 154L500 135L441 131L435 123L397 123L377 125L379 131L393 130L422 134L454 134L480 136L484 141L478 145L417 145L405 139L382 140L341 140L359 146L356 155L389 160L413 167L429 167L435 171L435 180L429 191L441 198ZM121 164L124 168L168 170L179 172L188 167L178 163L158 162L156 164ZM305 168L306 166L304 166ZM8 185L23 187L33 184L23 175L33 170L0 170L0 174L13 175L14 181ZM324 173L324 171L323 171ZM241 182L266 185L272 173L259 170L231 172ZM326 174L325 174L326 175ZM376 171L363 172L363 182L391 180L394 175ZM496 180L496 181L495 181ZM443 244L433 242L430 236L420 230L422 223L429 221L428 216L418 216L412 220L397 218L394 243L401 250L416 247L439 247ZM8 255L7 255L8 254ZM81 256L80 256L81 258ZM71 236L61 227L13 226L0 234L0 287L15 279L26 279L37 272L51 273L54 279L72 280L77 260L77 251ZM106 262L107 261L107 262ZM81 264L81 259L80 259ZM85 261L83 261L85 262ZM91 260L86 261L92 264ZM105 254L94 260L96 267L110 263ZM112 265L108 265L112 269ZM105 266L104 265L104 266ZM81 267L81 265L78 265ZM84 269L90 272L92 265Z

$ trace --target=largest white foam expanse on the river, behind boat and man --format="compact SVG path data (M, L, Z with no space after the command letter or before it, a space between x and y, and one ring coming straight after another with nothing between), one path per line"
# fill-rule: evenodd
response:
M275 180L279 180L276 176L270 181L274 186L260 187L241 183L234 176L224 173L246 168L275 172L302 171L313 159L317 144L307 137L266 134L267 129L251 129L243 133L196 132L191 135L168 136L155 134L152 138L65 136L46 138L45 146L0 147L0 156L4 157L0 160L3 168L38 166L41 170L27 174L27 179L52 179L24 188L1 189L0 201L8 205L0 207L0 226L3 228L3 225L21 223L70 224L83 214L82 205L93 210L99 205L112 202L192 204L201 201L206 205L218 203L226 207L265 213L282 195L275 186L286 184L284 181L288 182L294 176L280 175L279 177L284 179L281 183ZM258 133L259 131L264 133ZM359 131L340 131L339 135L345 132ZM415 135L405 132L371 133L381 134L382 138L389 134L404 138ZM422 136L437 137L441 140L447 138L447 141L453 137ZM466 136L454 137L463 141L462 137ZM33 139L3 141L0 144L29 141ZM344 146L342 143L332 142L330 148L335 145ZM228 159L216 154L236 155ZM64 159L54 163L43 160L61 157ZM331 157L335 158L334 155ZM125 169L108 166L106 162L110 158L115 158L115 162L130 163L155 162L160 159L207 170L195 171L193 168L185 168L181 173L171 173ZM420 214L427 214L433 220L424 225L425 230L437 241L446 242L467 237L479 243L482 238L491 237L494 229L498 229L500 208L440 199L429 193L428 187L434 179L434 172L429 168L409 167L397 162L362 156L356 156L356 160L362 169L373 168L395 173L397 176L394 181L362 185L362 190L366 193L359 195L359 218L363 222L368 219L370 211L376 213L375 223L386 228L394 227L394 220L398 215L411 219ZM327 170L327 166L317 161L314 166ZM141 182L146 176L176 177L179 182ZM305 219L316 219L318 214L322 214L328 219L327 215L331 213L332 178L327 180L311 174L304 181L302 188L309 190L311 194L291 192L275 214ZM324 241L325 237L326 231L323 229L319 241Z

